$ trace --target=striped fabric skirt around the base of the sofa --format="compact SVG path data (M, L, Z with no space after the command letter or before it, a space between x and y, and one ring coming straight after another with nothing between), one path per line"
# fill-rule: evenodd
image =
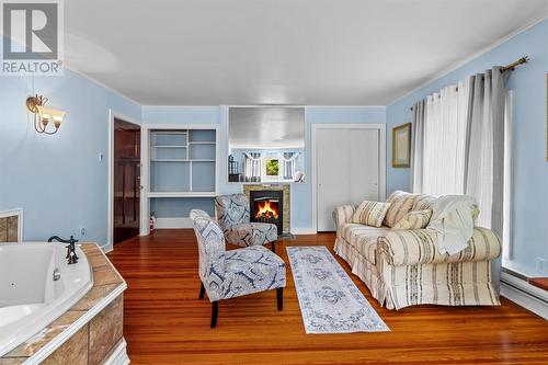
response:
M416 305L500 305L492 285L491 261L392 266L380 256L377 265L373 265L340 237L334 251L388 309Z

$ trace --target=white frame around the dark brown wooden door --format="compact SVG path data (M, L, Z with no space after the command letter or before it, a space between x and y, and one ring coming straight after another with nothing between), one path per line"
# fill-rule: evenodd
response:
M102 247L103 251L110 252L114 249L114 119L121 119L126 123L134 124L140 129L140 179L142 185L142 161L145 158L142 148L142 123L136 118L118 113L112 109L109 109L109 206L107 206L107 233L106 243ZM145 228L147 227L148 219L144 214L146 209L146 198L144 197L145 191L141 189L139 193L139 236L145 236Z

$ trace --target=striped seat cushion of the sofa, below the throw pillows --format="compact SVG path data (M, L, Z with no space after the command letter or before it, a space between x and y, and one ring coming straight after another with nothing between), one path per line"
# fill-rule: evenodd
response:
M368 262L375 264L378 238L390 231L388 227L370 227L359 224L344 224L342 237L356 249Z

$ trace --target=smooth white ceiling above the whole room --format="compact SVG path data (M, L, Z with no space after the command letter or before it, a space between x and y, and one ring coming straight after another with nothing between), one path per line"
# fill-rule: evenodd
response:
M384 105L547 14L547 0L69 0L66 62L141 104Z

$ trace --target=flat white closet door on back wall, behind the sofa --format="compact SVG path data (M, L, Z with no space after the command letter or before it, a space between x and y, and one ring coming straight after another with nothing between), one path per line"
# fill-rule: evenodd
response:
M332 231L336 206L379 199L379 130L316 130L318 231Z

